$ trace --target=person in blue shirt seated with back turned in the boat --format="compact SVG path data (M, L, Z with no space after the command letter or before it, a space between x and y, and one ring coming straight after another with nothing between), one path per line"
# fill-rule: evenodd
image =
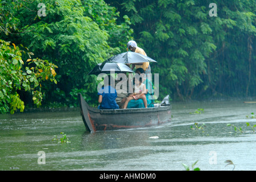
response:
M117 98L117 90L115 90L111 85L111 76L106 76L104 79L104 87L98 92L99 99L98 102L101 104L98 109L119 109L115 98Z

